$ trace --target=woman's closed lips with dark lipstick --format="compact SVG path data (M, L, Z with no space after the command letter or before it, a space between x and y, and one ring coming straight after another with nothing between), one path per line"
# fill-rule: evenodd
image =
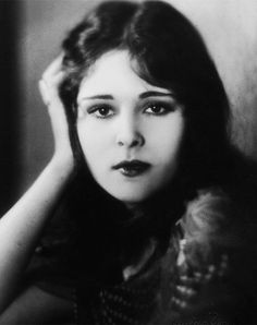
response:
M150 164L140 160L124 160L114 165L112 169L120 170L122 174L127 177L136 177L145 172Z

